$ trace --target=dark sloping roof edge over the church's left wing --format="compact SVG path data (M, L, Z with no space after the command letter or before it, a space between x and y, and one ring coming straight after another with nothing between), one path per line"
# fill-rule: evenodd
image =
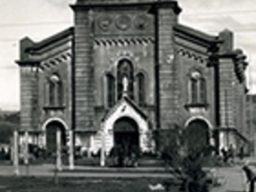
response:
M52 44L54 42L58 42L59 40L62 40L63 38L66 38L73 34L74 34L74 27L70 27L66 30L62 30L58 34L54 34L50 38L46 38L46 39L42 40L42 42L34 43L33 46L30 46L26 49L26 52L33 52L36 50L40 50L46 46L49 46L50 44Z

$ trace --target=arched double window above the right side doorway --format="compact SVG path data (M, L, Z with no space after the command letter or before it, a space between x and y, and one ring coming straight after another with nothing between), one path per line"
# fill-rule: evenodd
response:
M190 102L192 104L206 103L206 80L198 71L194 71L193 73L191 73Z

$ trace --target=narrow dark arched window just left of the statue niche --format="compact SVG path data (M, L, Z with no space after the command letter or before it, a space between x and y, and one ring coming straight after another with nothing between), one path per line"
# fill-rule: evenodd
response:
M114 77L112 74L106 75L106 83L107 83L107 106L114 106L115 102L115 86L114 86Z

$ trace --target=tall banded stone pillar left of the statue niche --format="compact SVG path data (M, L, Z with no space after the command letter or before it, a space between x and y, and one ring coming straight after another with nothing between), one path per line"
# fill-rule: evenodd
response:
M74 81L76 129L90 130L94 125L94 62L92 8L74 7Z

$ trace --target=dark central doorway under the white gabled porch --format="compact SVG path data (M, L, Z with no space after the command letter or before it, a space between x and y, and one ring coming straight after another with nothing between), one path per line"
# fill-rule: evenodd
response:
M122 147L126 154L139 148L138 124L132 118L119 118L114 123L114 146Z

